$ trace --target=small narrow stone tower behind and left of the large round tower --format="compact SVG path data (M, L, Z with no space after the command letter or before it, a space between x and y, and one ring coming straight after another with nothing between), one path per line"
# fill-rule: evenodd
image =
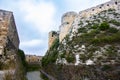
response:
M48 41L49 49L52 46L52 44L55 41L55 39L57 39L57 38L58 38L58 32L55 32L55 31L49 32L49 41Z

